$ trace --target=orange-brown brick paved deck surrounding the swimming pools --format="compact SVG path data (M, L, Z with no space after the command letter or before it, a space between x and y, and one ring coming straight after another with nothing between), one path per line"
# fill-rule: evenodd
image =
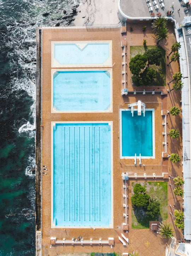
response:
M146 25L146 33L142 31L142 26ZM129 27L129 24L127 24ZM40 28L41 29L41 28ZM163 42L161 46L170 52L172 43L175 42L173 28L169 27L171 33L167 41ZM168 158L162 158L163 151L163 126L161 110L169 110L172 106L180 107L181 94L174 90L170 93L164 94L128 94L121 96L122 89L122 48L121 41L127 41L127 64L130 60L130 45L143 45L143 39L147 40L147 45L155 45L155 38L148 23L133 24L133 32L121 33L121 28L42 28L42 81L41 81L41 136L42 136L42 165L46 165L47 170L42 170L45 174L41 175L42 179L42 239L41 239L41 255L42 256L56 256L61 253L79 253L79 252L132 252L138 250L141 255L165 255L166 239L162 239L160 235L152 232L149 229L132 229L131 228L131 203L129 199L129 232L123 232L122 223L125 218L123 217L123 180L121 174L126 171L131 179L128 181L129 198L131 196L131 183L136 181L134 173L142 175L144 173L151 178L146 181L169 181L162 178L162 173L167 172L172 176L181 176L182 167L181 163L171 163ZM51 42L52 41L80 41L80 40L112 40L112 97L113 106L112 113L51 113ZM57 68L58 69L58 68ZM172 62L166 69L166 80L171 80L173 73L179 71L177 62ZM127 65L127 87L129 91L133 91L134 87L131 86L130 71ZM168 87L168 86L167 86ZM172 87L170 83L169 87ZM149 87L148 87L149 88ZM146 90L148 88L145 88ZM169 89L170 89L169 88ZM137 91L143 88L137 88ZM162 90L164 87L159 87ZM167 89L167 88L166 88ZM151 88L153 90L153 88ZM119 109L127 108L129 103L137 102L138 100L146 103L146 108L155 109L155 159L142 159L142 165L134 165L133 159L120 159L119 158ZM51 122L59 121L112 121L113 122L113 211L114 211L114 228L113 229L82 229L82 228L51 228ZM176 117L172 115L167 116L168 129L176 128L181 131L181 115ZM168 138L168 153L179 153L181 156L181 136L178 139ZM164 168L164 169L163 169ZM164 171L165 170L165 171ZM153 173L161 178L154 179ZM138 179L145 181L145 179ZM170 182L170 181L169 181ZM172 181L171 181L172 182ZM181 198L173 194L171 186L168 186L168 203L176 205L181 208ZM170 207L168 211L171 211ZM173 219L168 214L168 221L173 225ZM183 239L183 234L175 229L175 236L177 239ZM118 236L123 233L128 239L129 244L124 247ZM50 246L50 238L56 237L59 240L71 239L73 237L82 236L84 240L107 240L114 238L115 245L112 248L108 245L52 245ZM36 253L38 255L38 253Z

